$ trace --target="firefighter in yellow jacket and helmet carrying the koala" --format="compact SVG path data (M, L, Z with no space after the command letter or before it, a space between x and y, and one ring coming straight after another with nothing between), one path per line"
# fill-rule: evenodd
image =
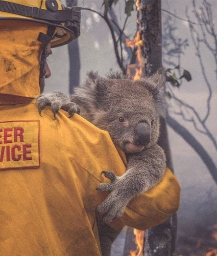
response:
M125 172L126 159L109 135L75 114L50 107L41 117L35 98L51 75L50 47L80 34L80 10L59 0L0 1L0 255L100 256L95 208L107 193L102 170ZM124 225L147 229L171 216L180 187L170 170L134 199Z

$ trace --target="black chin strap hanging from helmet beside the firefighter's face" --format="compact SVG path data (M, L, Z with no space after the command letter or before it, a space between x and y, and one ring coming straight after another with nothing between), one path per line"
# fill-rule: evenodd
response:
M46 74L46 70L45 70L46 50L47 50L47 45L52 40L55 29L56 29L55 27L49 26L47 29L47 34L40 32L38 36L38 41L43 43L43 49L42 49L41 58L40 58L40 78L44 78Z

